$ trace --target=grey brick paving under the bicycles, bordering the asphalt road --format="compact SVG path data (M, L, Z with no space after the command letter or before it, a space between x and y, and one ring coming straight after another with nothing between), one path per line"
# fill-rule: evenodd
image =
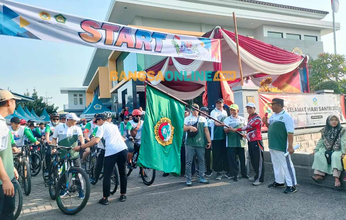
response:
M161 171L156 171L155 181L151 186L147 186L143 183L142 178L138 175L139 167L135 169L127 179L127 195L133 195L140 191L147 192L155 190L156 188L162 188L167 184L182 183L184 179L179 179L173 175L167 177L162 176ZM52 200L48 193L48 187L44 186L42 173L31 179L31 193L30 195L23 195L23 209L18 219L31 219L37 213L43 213L48 211L61 212L56 204L55 200ZM22 189L24 194L24 189ZM120 196L120 185L114 195L109 197L109 200L117 199ZM87 205L96 204L102 197L102 180L95 185L91 185L90 198Z

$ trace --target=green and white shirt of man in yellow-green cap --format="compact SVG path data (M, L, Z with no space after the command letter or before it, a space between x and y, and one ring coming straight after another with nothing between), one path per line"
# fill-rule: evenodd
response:
M244 127L246 125L246 120L244 117L237 115L233 117L232 115L224 120L224 123L233 128ZM227 127L224 127L227 128ZM245 132L243 132L245 133ZM242 147L245 148L245 139L241 137L237 132L228 132L226 139L226 147Z

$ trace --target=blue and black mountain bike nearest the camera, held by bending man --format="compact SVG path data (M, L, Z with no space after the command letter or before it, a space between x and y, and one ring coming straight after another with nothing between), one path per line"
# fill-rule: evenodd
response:
M53 161L49 171L49 194L51 195L51 191L55 187L54 198L59 209L64 214L74 215L80 212L86 203L88 203L90 197L88 175L82 168L74 167L73 159L70 159L69 152L72 147L52 144L49 144L49 146L65 152L65 155L61 159L59 159L61 152L56 151L53 154ZM83 199L79 199L79 193L81 191L85 192ZM82 200L81 203L79 202L80 200Z

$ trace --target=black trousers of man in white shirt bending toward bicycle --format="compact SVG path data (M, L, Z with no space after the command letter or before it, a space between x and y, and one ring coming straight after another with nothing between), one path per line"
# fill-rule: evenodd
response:
M120 194L126 193L127 176L126 176L127 149L113 155L104 157L103 160L103 197L110 196L110 178L115 164L118 165L120 177Z

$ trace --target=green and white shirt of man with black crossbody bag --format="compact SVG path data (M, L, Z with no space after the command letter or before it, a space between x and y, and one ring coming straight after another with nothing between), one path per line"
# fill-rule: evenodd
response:
M192 126L194 125L198 120L198 134L192 138L190 138L188 135L186 136L186 142L185 144L191 146L191 147L206 147L206 143L204 142L205 134L204 134L204 127L208 127L208 122L206 118L202 116L193 116L190 115L184 119L184 125L185 126Z

